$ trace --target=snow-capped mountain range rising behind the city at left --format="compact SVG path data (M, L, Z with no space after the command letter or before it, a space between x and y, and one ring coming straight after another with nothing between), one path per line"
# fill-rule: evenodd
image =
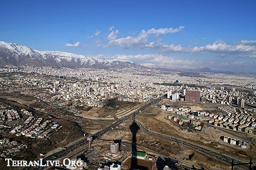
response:
M38 51L15 43L0 41L0 66L5 65L94 68L139 67L139 65L126 60L104 60L90 55L60 51Z

